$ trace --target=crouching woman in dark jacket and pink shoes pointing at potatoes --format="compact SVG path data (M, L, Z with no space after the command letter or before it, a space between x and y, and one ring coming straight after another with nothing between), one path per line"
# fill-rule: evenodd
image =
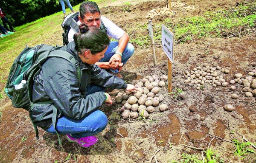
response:
M107 51L108 35L85 23L79 25L79 29L74 41L61 50L69 52L77 60L81 82L76 67L69 61L59 57L47 59L35 76L32 102L52 101L52 104L35 105L29 115L36 126L49 133L58 131L66 134L68 141L87 148L97 143L95 135L108 124L105 113L98 110L104 103L113 103L111 96L104 93L105 88L130 92L137 88L95 65ZM58 108L56 127L52 124L55 108Z

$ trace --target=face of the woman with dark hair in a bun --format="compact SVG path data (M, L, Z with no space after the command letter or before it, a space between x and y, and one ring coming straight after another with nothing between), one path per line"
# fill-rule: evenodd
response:
M90 51L84 51L84 53L79 56L80 56L82 62L93 65L104 57L104 53L107 51L107 49L108 49L108 47L106 47L103 51L96 53L96 54L92 54ZM86 58L88 58L88 59L86 59Z

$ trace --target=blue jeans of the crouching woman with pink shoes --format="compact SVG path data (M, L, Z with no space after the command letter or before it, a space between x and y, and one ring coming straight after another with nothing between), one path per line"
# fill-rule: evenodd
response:
M91 84L87 87L86 95L98 91L105 91L105 88ZM80 120L74 120L72 118L62 116L61 118L57 119L56 129L58 133L71 134L74 138L83 138L96 135L97 133L104 130L107 124L108 118L104 112L96 110ZM45 131L56 134L53 125Z

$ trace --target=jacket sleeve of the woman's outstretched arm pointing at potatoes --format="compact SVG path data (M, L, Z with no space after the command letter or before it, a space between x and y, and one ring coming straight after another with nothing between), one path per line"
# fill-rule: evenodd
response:
M127 88L127 84L122 79L102 70L97 65L91 66L91 82L112 89Z

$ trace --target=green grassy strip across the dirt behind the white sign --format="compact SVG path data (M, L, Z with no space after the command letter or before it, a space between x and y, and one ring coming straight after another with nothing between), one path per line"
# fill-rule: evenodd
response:
M207 11L202 16L180 17L180 20L174 22L167 18L161 23L153 24L155 45L161 45L161 24L171 28L175 34L175 43L183 43L201 39L204 37L240 37L245 34L253 33L256 28L255 4L250 6L239 5L235 8L228 8L211 12ZM147 25L138 25L138 27L147 30ZM135 33L134 33L135 32ZM137 34L136 31L129 31L131 42L138 46L150 46L151 39L148 32Z

